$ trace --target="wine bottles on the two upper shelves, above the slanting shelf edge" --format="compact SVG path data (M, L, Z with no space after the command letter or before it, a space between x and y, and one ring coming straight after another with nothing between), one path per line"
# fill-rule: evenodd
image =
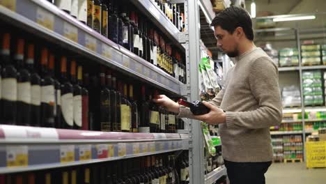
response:
M130 1L52 0L52 3L180 82L186 82L186 68L178 49L167 44L170 41ZM176 4L172 6L169 1L161 0L155 1L155 4L162 10L164 8L171 21L173 19L173 22L178 22L177 25L183 25L183 13L179 13L179 6L177 8ZM172 7L174 11L170 10Z

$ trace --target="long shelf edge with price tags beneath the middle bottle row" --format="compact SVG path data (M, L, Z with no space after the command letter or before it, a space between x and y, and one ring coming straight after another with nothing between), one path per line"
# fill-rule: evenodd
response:
M96 132L0 125L0 173L181 151L187 146L183 145L183 140L179 134Z

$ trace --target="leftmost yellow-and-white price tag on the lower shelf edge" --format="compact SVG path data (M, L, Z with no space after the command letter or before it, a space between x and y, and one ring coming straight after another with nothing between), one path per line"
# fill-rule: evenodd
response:
M7 146L7 166L26 167L29 164L28 146Z

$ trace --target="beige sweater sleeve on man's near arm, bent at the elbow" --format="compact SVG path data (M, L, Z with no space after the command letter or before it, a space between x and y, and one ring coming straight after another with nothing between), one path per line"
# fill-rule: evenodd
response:
M266 57L256 59L249 70L249 86L258 108L249 112L226 112L228 127L269 128L282 118L277 66Z

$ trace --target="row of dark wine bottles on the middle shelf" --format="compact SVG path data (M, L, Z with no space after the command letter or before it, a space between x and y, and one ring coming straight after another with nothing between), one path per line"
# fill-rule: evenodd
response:
M38 62L34 62L34 54ZM124 83L117 72L104 66L100 72L88 67L95 73L91 77L91 69L83 71L75 58L58 56L47 47L6 32L1 34L0 58L2 124L116 132L183 129L176 114L152 101L158 91L151 94L140 84L136 88L141 88L141 93L134 95L132 83Z

